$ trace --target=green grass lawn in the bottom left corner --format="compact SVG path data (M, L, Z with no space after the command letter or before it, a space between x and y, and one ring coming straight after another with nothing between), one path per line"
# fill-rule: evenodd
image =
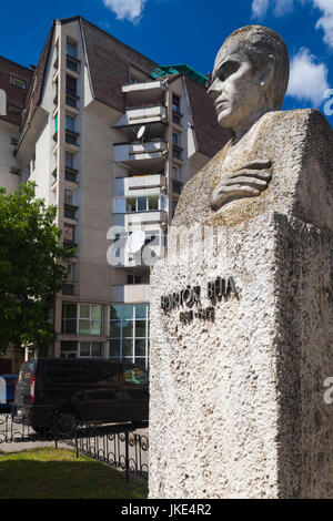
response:
M145 499L148 488L64 449L0 453L0 499Z

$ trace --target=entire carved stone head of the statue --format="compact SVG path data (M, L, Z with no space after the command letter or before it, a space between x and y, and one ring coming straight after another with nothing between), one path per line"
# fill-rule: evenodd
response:
M265 112L280 110L289 82L289 55L272 29L246 25L218 52L209 94L221 126L243 134Z

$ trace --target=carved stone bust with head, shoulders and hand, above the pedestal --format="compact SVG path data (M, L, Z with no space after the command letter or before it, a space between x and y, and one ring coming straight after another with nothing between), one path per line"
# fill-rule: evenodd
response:
M333 231L323 210L333 207L332 127L317 110L280 110L287 82L286 45L273 30L248 25L224 41L208 93L233 137L186 183L172 225L275 211Z

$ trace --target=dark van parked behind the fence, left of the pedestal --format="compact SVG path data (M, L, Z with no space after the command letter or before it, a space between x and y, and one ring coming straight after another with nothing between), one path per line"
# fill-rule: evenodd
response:
M54 417L79 421L148 420L148 374L124 361L84 358L38 358L20 367L12 419L34 430Z

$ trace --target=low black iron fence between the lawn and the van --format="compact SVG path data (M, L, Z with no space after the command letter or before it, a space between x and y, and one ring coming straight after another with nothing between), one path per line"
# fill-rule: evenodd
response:
M77 421L69 415L54 415L48 426L13 422L11 415L0 415L1 443L54 442L70 446L79 454L88 456L107 466L121 469L127 479L148 480L149 438L141 429L147 423L97 425Z

